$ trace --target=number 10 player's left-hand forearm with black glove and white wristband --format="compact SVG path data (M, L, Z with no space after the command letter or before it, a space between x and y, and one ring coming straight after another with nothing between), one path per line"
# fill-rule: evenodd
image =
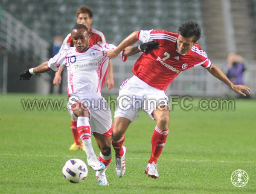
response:
M51 68L48 67L48 61L46 61L35 68L29 68L29 69L23 70L19 75L20 80L29 80L33 74L40 74L50 70Z

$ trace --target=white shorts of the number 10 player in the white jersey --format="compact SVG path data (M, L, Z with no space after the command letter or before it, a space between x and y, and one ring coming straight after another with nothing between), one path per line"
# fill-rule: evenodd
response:
M74 115L71 106L73 104L82 103L82 108L88 107L88 111L90 113L90 128L92 132L96 132L99 134L105 134L108 131L111 132L112 128L112 115L110 108L108 107L107 101L104 97L101 96L100 93L96 94L88 94L86 95L72 95L69 97L67 103L67 109L74 119L77 117ZM81 105L79 105L81 106ZM78 107L78 106L77 106ZM111 135L111 134L110 134Z

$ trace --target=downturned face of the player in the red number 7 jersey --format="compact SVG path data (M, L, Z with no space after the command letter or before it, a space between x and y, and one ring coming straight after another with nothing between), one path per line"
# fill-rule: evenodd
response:
M193 39L194 37L186 38L179 34L177 40L177 51L180 54L186 54L192 48L192 46L195 46L198 43L198 41L194 43Z

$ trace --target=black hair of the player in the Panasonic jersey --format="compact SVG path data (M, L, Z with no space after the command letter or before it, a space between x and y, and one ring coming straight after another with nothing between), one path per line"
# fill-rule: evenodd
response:
M201 37L201 29L196 21L187 21L181 24L178 33L185 38L194 37L194 43Z

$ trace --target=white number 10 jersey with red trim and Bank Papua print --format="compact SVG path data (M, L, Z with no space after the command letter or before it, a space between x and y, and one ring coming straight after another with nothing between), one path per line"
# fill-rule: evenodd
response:
M100 93L108 70L107 51L114 48L116 46L112 44L102 43L79 52L76 47L70 47L51 58L48 66L54 71L67 66L70 95Z

